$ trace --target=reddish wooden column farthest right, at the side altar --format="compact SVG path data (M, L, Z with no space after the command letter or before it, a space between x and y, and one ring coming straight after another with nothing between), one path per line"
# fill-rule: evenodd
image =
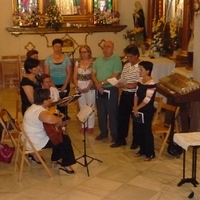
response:
M183 5L183 28L182 28L182 42L181 42L181 56L187 57L188 41L190 39L190 21L191 21L191 0L184 0Z

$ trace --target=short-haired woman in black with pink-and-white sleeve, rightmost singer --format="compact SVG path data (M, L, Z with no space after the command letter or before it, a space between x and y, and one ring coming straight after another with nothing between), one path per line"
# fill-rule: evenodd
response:
M140 150L135 157L145 156L145 161L150 161L155 157L154 138L151 130L153 115L155 112L154 99L156 94L156 84L151 77L153 63L142 61L139 63L141 79L138 82L134 97L134 132L139 136ZM143 113L139 115L139 112ZM144 116L144 123L137 118Z

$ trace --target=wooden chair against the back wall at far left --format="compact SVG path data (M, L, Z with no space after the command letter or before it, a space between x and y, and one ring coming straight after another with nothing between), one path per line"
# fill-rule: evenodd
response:
M3 86L15 87L20 82L19 56L2 56Z

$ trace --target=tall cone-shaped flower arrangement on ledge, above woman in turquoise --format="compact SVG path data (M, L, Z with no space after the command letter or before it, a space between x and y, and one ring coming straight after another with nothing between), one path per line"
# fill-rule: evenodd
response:
M62 27L63 18L57 5L51 3L47 8L45 24L47 28L59 30Z

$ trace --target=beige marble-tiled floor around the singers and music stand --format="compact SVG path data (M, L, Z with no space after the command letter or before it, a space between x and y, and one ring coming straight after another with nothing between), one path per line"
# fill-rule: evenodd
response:
M15 116L14 89L0 89L0 109L6 108ZM80 123L76 119L76 106L69 106L71 121L67 132L71 137L76 157L82 156L83 135L79 133ZM193 187L186 183L177 187L182 177L182 157L169 156L166 151L162 158L145 162L143 157L136 158L137 150L130 150L131 135L128 145L112 149L110 138L95 141L99 131L97 126L93 134L87 134L87 154L100 159L93 160L88 168L80 164L73 166L75 175L59 173L58 168L51 168L50 150L44 151L47 165L54 176L49 178L43 167L32 164L25 167L22 181L18 182L18 173L14 173L14 159L11 164L0 163L0 199L1 200L186 200ZM191 176L191 151L187 152L187 176ZM84 160L80 159L84 164ZM89 162L90 159L87 159ZM199 169L198 169L199 171ZM200 175L197 173L197 180Z

